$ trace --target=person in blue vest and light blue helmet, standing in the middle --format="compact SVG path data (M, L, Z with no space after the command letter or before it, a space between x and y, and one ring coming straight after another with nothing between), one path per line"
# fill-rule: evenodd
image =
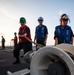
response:
M44 20L42 17L38 18L39 25L36 27L36 30L35 30L34 42L39 43L43 46L46 46L47 37L48 37L48 29L43 24L43 21ZM36 46L36 50L38 50L38 45Z

